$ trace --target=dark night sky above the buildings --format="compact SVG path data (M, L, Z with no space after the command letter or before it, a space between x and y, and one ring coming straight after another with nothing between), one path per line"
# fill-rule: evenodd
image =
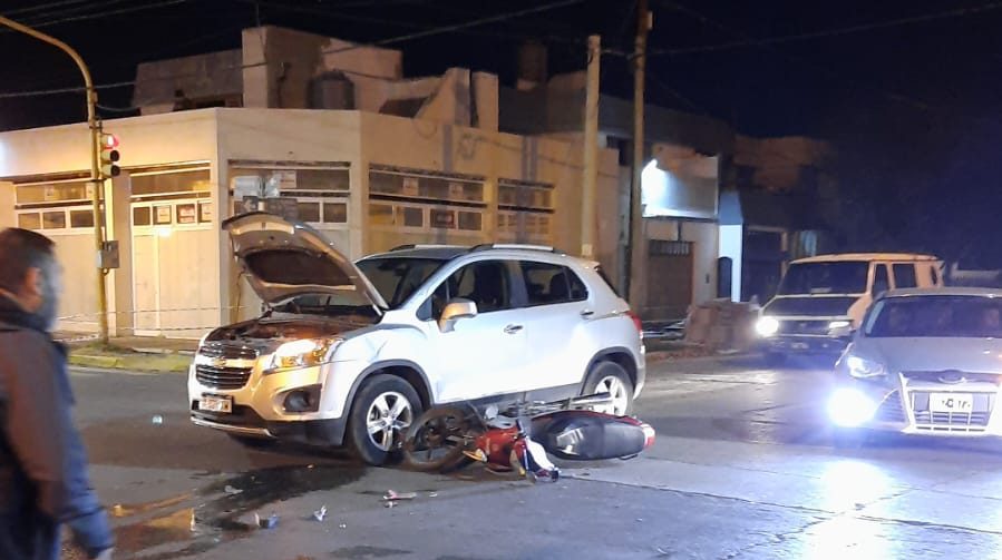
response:
M43 30L78 47L98 83L111 83L132 80L140 61L235 48L240 30L259 18L362 42L551 1L0 0L0 13L38 23L104 11L104 17ZM996 179L1002 2L649 1L654 12L650 49L668 51L649 59L652 101L711 115L756 136L834 140L844 155L843 183L852 183L854 194L875 208L872 218L879 227L873 229L893 238L935 249L935 239L922 235L935 236L921 229L933 227L940 237L970 236L971 230L960 233L965 223L979 223L1002 234L994 225L994 209L1002 206ZM602 35L607 49L632 50L634 6L633 0L584 0L393 47L405 51L408 76L463 66L499 73L512 83L517 45L528 37L549 46L552 73L583 67L588 33ZM22 11L31 7L37 9ZM118 10L136 11L111 13ZM927 17L949 11L964 13ZM816 37L790 39L805 35ZM703 49L735 42L742 45ZM0 96L79 83L68 59L30 38L2 32L0 52ZM603 68L603 89L630 97L626 59L607 55ZM108 106L128 106L129 98L129 88L101 92ZM0 97L0 130L82 116L78 94ZM945 224L935 219L947 212L938 199L944 193L950 199ZM985 198L994 204L977 204ZM902 203L911 213L897 212Z

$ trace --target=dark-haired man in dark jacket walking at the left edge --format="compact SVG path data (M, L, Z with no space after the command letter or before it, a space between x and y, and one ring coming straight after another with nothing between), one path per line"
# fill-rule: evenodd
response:
M52 242L0 232L0 559L58 560L66 524L89 558L111 558L111 530L70 416L66 350L49 335L59 265Z

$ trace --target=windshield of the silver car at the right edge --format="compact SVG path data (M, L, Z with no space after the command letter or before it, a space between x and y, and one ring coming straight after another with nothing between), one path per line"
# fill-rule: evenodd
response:
M866 322L872 337L1002 337L1002 299L906 296L877 302Z

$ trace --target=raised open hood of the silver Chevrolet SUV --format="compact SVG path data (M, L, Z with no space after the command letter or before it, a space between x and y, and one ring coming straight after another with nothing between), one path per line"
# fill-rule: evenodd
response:
M312 227L253 212L223 222L230 243L257 296L274 304L302 294L337 295L351 305L386 302L358 267Z

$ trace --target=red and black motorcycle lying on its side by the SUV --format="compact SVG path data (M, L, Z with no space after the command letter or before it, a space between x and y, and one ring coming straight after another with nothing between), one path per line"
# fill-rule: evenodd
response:
M631 459L654 443L654 429L631 416L594 409L607 405L606 393L553 402L519 401L435 406L411 424L403 439L403 462L420 471L447 472L470 461L493 472L554 481L563 460Z

